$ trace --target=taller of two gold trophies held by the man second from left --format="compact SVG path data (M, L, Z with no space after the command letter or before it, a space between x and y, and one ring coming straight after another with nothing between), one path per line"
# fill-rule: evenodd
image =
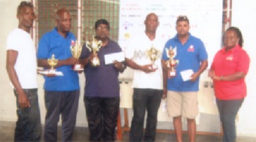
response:
M82 52L82 46L78 45L77 40L76 40L76 42L74 42L74 40L71 40L70 50L71 50L72 56L76 59L79 59L81 52ZM80 65L80 64L74 65L72 67L72 69L74 69L74 71L84 70L84 69L82 69L82 65Z

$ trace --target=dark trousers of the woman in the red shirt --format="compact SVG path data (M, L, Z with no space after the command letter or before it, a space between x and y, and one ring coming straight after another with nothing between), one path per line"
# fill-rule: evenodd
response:
M241 105L241 100L217 100L217 107L219 110L219 118L223 127L223 142L235 142L235 117Z

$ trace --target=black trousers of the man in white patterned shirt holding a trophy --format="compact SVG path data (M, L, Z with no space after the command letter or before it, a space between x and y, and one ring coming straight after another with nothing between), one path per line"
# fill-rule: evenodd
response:
M147 110L146 131L144 141L155 141L156 124L158 122L158 108L162 99L162 90L134 89L132 126L130 141L142 141L144 117Z

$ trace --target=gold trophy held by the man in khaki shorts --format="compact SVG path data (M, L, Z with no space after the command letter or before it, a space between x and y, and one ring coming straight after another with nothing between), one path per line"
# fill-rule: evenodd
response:
M176 76L175 67L177 67L179 63L177 59L174 59L174 57L176 57L177 55L177 48L172 48L172 46L170 46L169 50L166 48L166 55L167 57L169 57L169 60L166 61L166 66L168 67L168 69L170 69L170 77L174 77Z

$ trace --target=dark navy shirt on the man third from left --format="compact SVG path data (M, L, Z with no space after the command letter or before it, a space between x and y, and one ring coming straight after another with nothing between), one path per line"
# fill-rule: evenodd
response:
M86 85L84 89L84 96L90 97L118 97L120 95L118 75L119 71L114 67L114 64L105 64L104 55L110 53L122 52L120 46L112 40L108 41L108 44L100 48L98 52L98 58L100 59L100 65L98 67L92 67L88 63L84 67L84 74ZM82 47L81 58L88 57L90 52L86 45Z

